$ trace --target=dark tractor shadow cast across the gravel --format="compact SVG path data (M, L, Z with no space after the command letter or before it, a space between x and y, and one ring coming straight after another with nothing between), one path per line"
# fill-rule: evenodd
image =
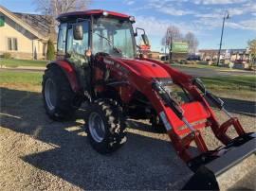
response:
M169 142L128 133L122 148L101 155L86 141L81 122L46 116L41 94L1 88L0 101L1 128L55 146L21 159L82 189L178 189L190 177ZM82 111L76 116L82 118Z

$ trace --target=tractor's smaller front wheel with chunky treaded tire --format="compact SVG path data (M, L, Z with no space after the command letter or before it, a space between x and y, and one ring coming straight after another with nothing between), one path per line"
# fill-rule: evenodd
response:
M89 106L85 130L93 148L101 154L116 151L126 142L125 119L117 101L98 99Z

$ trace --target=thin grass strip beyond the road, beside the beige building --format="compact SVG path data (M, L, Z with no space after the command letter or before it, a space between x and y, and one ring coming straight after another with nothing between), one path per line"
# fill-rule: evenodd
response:
M16 60L16 59L1 59L0 65L7 67L18 67L18 66L34 66L34 67L45 67L47 61L31 61L31 60Z

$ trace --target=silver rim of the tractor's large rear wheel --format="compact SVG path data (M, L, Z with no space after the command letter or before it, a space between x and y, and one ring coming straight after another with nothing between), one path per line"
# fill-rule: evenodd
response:
M56 86L51 78L46 79L45 97L48 109L54 110L56 106Z

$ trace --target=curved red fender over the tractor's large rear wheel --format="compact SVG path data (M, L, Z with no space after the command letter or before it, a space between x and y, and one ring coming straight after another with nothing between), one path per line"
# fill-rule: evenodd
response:
M51 65L57 65L58 67L60 67L66 78L69 81L69 84L71 86L71 89L75 92L78 93L81 91L81 87L78 83L78 79L76 76L76 71L75 68L67 61L51 61L47 64L47 68L51 67Z

